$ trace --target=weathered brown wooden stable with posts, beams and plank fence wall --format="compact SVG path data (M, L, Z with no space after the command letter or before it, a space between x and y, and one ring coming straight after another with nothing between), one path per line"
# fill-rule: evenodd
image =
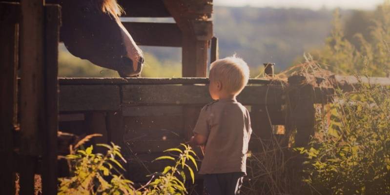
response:
M42 176L44 195L56 194L57 156L62 152L58 130L99 133L103 137L93 142L120 145L129 162L126 175L135 182L162 170L166 162L151 164L162 151L188 141L200 109L211 101L205 86L207 60L218 59L212 0L119 3L125 17L176 21L123 25L139 45L181 47L183 78L57 78L61 7L42 0L0 2L0 156L6 159L0 161L0 194L15 194L17 172L21 194L33 194L34 174ZM272 76L271 66L266 73ZM305 79L249 80L238 99L250 109L253 137L277 139L287 147L288 137L272 130L273 125L285 125L297 129L297 146L308 143L314 131L313 105L328 102L333 90ZM250 150L259 148L252 140Z

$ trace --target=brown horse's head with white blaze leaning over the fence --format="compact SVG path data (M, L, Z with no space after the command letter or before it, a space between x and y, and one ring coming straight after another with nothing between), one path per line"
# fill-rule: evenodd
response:
M116 0L59 0L61 39L73 55L118 71L121 77L139 75L144 57L119 19Z

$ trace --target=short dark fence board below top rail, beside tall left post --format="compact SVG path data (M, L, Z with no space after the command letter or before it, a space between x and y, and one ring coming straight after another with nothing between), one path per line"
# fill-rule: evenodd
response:
M120 110L119 86L62 85L60 111Z

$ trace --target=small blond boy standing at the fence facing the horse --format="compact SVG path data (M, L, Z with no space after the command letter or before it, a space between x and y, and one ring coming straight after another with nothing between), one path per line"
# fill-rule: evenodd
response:
M236 100L246 86L249 68L235 56L211 64L208 91L214 102L203 107L191 142L205 146L199 174L209 195L238 195L246 175L252 129L249 112Z

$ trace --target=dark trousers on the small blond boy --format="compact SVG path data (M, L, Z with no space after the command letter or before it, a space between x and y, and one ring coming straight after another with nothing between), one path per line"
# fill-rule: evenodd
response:
M203 176L206 195L239 195L244 173L206 174Z

